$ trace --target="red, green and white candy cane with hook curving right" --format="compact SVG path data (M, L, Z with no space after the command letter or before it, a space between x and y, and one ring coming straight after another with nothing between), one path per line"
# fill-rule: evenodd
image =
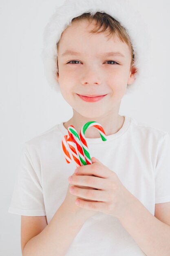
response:
M86 124L84 124L84 126L82 126L81 130L80 130L80 141L82 142L82 148L84 151L84 156L86 159L86 163L87 164L92 164L91 162L91 156L90 153L88 151L88 146L87 146L87 142L86 142L86 137L85 137L85 132L89 127L94 126L95 128L97 128L97 130L99 131L99 134L102 138L102 141L106 141L106 133L104 132L103 127L101 126L101 124L95 122L95 121L90 121Z

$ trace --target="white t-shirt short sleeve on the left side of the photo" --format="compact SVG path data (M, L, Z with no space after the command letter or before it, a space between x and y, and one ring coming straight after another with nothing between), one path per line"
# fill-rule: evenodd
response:
M35 170L26 143L22 147L9 213L24 216L46 216L40 171Z

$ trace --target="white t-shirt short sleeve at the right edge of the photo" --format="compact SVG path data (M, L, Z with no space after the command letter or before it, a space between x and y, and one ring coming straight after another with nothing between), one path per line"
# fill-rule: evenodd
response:
M170 202L170 135L165 132L157 150L155 204Z

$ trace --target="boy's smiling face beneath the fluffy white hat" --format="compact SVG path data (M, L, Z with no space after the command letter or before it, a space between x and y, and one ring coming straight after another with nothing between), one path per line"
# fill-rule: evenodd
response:
M93 26L93 22L89 25L88 21L82 20L66 28L58 48L57 74L64 99L74 112L90 119L119 110L127 84L135 80L135 69L130 70L128 45L117 36L108 38L105 33L89 33ZM80 54L62 56L66 50ZM106 56L106 52L120 52L124 57ZM99 101L87 102L77 94L107 95Z

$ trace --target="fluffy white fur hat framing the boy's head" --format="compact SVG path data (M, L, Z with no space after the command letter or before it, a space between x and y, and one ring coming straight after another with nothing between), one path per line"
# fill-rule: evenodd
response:
M73 18L82 13L105 12L119 21L126 29L135 54L134 65L137 67L135 81L127 86L126 94L142 85L147 78L149 35L139 11L135 10L128 0L65 0L55 9L48 24L44 28L44 46L42 60L46 79L55 91L60 91L57 83L57 42L62 32Z

